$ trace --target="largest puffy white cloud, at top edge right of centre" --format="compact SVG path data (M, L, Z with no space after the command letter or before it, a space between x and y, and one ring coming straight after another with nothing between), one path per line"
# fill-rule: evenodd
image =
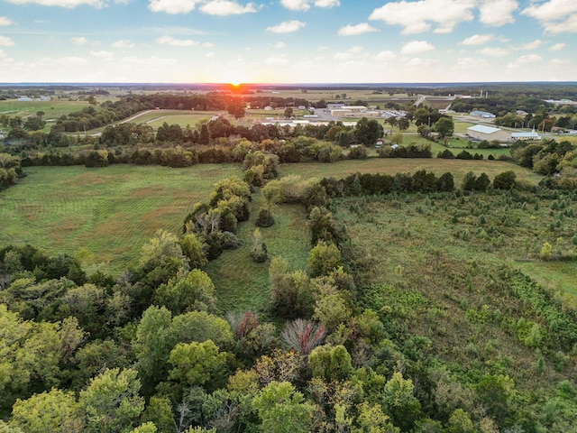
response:
M404 27L403 33L453 32L458 23L472 21L476 0L419 0L417 2L390 2L372 11L370 20L380 20Z

